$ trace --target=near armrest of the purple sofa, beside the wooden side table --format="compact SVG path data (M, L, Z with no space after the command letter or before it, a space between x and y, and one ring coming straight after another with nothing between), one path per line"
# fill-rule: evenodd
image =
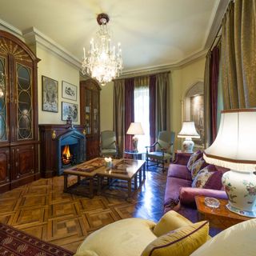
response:
M194 197L196 195L203 195L211 198L227 199L224 190L210 190L194 187L181 187L179 190L179 200L182 205L194 205Z

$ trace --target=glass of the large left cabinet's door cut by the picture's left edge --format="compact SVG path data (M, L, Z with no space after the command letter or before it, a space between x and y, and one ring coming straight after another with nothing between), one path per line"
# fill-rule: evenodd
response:
M7 141L6 59L0 57L0 142Z

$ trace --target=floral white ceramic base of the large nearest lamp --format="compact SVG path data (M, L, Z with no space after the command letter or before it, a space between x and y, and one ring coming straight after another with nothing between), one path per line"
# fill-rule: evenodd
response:
M229 198L226 208L235 214L256 218L256 175L230 170L223 174L222 184Z

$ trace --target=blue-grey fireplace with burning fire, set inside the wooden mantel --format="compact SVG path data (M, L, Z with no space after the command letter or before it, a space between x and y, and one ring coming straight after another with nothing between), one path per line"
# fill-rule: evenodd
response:
M66 168L85 161L85 139L78 130L68 130L58 136L56 139L58 175L61 175Z

